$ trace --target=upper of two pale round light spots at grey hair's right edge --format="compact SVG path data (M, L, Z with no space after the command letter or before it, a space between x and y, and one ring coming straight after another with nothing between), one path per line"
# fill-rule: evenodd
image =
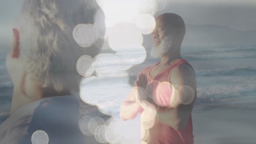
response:
M78 45L89 47L97 40L97 28L91 24L79 24L73 29L73 38Z

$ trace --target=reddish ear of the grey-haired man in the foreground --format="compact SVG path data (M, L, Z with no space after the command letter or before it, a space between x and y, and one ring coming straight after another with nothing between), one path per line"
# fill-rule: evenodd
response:
M16 28L13 28L13 47L10 52L12 58L20 57L20 32Z

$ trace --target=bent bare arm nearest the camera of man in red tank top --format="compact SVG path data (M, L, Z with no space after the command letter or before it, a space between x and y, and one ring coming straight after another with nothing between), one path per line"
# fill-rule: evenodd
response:
M173 96L178 98L179 103L177 106L170 108L160 107L156 113L156 121L168 125L175 130L182 130L187 125L196 97L194 71L187 64L178 65L172 70L170 81L176 89ZM149 104L145 102L143 101L142 107L144 107L144 110L147 110L147 105Z

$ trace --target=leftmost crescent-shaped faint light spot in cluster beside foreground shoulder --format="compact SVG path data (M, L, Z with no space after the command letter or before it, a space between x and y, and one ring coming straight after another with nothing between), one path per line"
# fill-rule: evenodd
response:
M90 117L90 116L84 116L79 121L79 129L86 136L91 136L94 134L94 133L91 133L90 128L89 128L89 122L91 121L91 119L92 119L92 117Z

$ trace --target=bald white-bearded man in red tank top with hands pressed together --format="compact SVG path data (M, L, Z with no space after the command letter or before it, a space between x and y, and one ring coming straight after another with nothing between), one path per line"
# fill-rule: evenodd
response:
M161 60L137 76L136 92L121 105L123 120L140 113L142 143L194 143L191 111L196 79L193 68L181 56L184 35L181 16L165 13L156 17L150 54Z

